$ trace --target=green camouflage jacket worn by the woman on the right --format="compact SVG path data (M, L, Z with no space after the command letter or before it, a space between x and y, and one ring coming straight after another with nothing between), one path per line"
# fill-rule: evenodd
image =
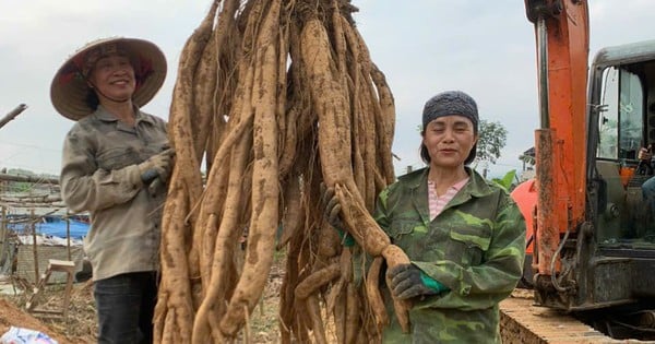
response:
M416 297L403 334L383 287L392 324L385 343L500 343L498 303L522 274L525 224L501 188L467 168L468 182L430 221L428 168L380 193L376 221L413 264L450 292Z

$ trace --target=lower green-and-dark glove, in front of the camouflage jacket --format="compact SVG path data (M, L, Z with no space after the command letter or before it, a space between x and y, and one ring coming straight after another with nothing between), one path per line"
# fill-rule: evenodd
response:
M450 290L414 264L398 264L386 272L391 293L402 300L416 296L438 295Z

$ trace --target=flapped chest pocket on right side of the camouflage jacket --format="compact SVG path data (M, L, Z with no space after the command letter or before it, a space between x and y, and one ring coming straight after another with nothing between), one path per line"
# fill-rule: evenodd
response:
M476 266L491 242L491 229L487 226L451 227L445 258L462 266Z

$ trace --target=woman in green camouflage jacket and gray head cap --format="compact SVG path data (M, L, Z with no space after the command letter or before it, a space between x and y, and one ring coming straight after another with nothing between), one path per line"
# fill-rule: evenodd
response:
M389 269L391 283L381 285L393 317L384 343L501 341L498 305L522 276L525 222L504 189L468 167L477 140L475 100L460 91L433 96L422 111L427 167L400 177L377 200L373 217L412 261ZM334 190L322 199L327 222L340 229ZM391 294L413 305L409 333L395 319Z

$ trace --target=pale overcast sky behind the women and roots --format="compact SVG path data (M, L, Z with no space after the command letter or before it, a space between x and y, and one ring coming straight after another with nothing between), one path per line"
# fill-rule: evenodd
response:
M591 51L655 36L655 1L590 0ZM50 81L66 58L90 40L145 38L165 52L164 87L143 109L168 118L179 54L211 1L0 0L0 117L28 108L0 129L0 168L59 174L61 143L73 124L49 98ZM492 174L521 168L538 126L535 40L523 1L353 0L373 62L384 72L396 105L396 174L420 167L416 130L425 102L462 90L480 117L508 129Z

